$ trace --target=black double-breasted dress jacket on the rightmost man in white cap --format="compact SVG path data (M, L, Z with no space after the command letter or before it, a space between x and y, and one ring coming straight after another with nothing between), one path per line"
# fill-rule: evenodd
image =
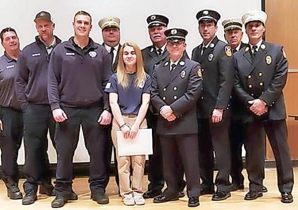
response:
M249 110L248 101L260 98L269 106L268 113L261 117L268 120L284 120L286 110L282 89L287 80L288 61L282 46L263 41L255 58L250 47L235 53L234 89L242 105L244 121L256 115Z

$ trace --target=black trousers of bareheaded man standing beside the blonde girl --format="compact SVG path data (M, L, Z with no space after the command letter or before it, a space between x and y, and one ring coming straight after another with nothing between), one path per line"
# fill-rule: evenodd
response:
M90 156L89 184L91 192L105 192L107 180L106 149L108 139L105 127L97 123L102 108L62 107L68 119L56 123L55 142L57 150L56 192L67 194L72 190L73 157L77 147L80 125L85 146Z

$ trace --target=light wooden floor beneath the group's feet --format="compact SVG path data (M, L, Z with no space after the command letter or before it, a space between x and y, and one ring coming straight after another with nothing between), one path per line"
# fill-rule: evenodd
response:
M298 168L295 169L295 182L298 181ZM244 172L245 177L246 172ZM211 195L203 195L200 197L200 210L298 210L298 188L294 186L292 204L283 204L280 202L280 194L277 188L276 169L266 169L264 185L268 188L268 192L264 196L254 201L244 201L243 197L247 192L247 178L245 180L245 190L231 192L231 197L224 201L211 201ZM107 188L107 194L110 198L108 205L98 205L90 199L90 191L88 188L88 178L76 178L74 182L74 190L78 194L78 201L67 203L62 209L65 210L118 210L118 209L142 209L142 210L183 210L187 209L187 197L181 198L179 201L167 202L163 204L153 204L152 199L146 200L144 206L124 206L120 197L117 195L117 185L114 177L111 178ZM20 184L24 180L20 181ZM144 177L144 186L147 187L147 176ZM21 186L21 185L20 185ZM23 206L21 200L10 200L6 196L4 183L0 182L0 210L46 210L51 208L51 201L54 197L46 195L38 195L38 200L32 205ZM194 209L194 208L189 208Z

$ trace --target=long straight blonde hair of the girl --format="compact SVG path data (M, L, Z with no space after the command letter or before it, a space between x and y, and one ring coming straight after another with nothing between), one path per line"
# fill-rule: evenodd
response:
M134 80L134 86L136 88L142 87L146 81L146 73L144 69L143 56L140 48L133 42L125 42L119 52L119 60L117 65L117 80L123 88L128 88L128 77L125 70L125 63L123 61L123 51L126 46L133 47L136 54L136 77Z

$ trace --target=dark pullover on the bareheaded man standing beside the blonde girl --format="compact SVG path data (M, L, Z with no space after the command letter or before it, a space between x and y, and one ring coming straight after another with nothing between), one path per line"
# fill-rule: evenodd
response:
M104 87L112 74L111 56L90 38L79 49L74 37L59 44L52 52L49 65L48 96L52 110L61 106L109 109Z

